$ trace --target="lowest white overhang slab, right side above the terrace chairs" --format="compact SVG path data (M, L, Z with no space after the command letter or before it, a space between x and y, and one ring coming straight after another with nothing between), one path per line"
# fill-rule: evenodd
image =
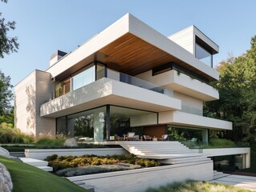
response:
M165 111L159 113L159 124L189 126L211 130L232 130L232 122L187 114L181 111Z

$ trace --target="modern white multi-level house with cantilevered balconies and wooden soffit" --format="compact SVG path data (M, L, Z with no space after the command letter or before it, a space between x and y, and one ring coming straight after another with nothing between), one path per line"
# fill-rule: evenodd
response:
M15 126L35 137L95 142L131 131L159 138L177 128L207 143L209 130L232 130L231 122L203 116L203 103L219 98L209 85L219 78L218 51L195 26L166 37L126 14L14 86Z

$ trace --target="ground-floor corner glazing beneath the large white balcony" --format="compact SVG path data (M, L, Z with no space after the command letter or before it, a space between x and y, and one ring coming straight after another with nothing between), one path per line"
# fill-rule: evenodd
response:
M107 106L102 106L57 118L56 121L57 134L64 134L69 138L83 138L83 141L105 141L108 140L108 130L110 139L114 139L115 135L123 136L129 131L143 135L143 126L157 124L157 113L109 106L107 115Z

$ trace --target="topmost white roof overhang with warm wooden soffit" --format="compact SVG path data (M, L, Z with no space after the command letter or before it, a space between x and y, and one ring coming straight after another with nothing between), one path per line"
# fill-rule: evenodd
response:
M92 61L103 62L112 70L132 76L168 62L176 62L209 81L219 78L216 70L132 14L124 15L61 58L47 72L58 81Z

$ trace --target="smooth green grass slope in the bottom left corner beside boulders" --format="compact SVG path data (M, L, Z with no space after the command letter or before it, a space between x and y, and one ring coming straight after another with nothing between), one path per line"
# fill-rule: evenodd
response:
M13 192L85 192L83 188L76 186L65 178L60 178L54 174L39 170L34 166L26 165L14 159L0 156L6 168L10 171Z

